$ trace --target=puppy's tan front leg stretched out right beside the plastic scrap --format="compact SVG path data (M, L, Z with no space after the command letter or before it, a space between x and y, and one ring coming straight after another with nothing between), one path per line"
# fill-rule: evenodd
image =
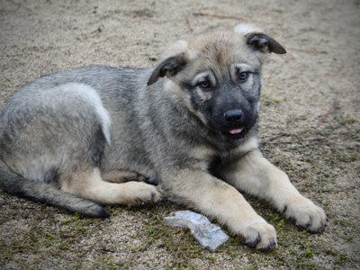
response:
M182 169L163 175L160 189L170 201L180 202L216 218L258 249L276 247L275 228L257 215L231 185L206 172Z

